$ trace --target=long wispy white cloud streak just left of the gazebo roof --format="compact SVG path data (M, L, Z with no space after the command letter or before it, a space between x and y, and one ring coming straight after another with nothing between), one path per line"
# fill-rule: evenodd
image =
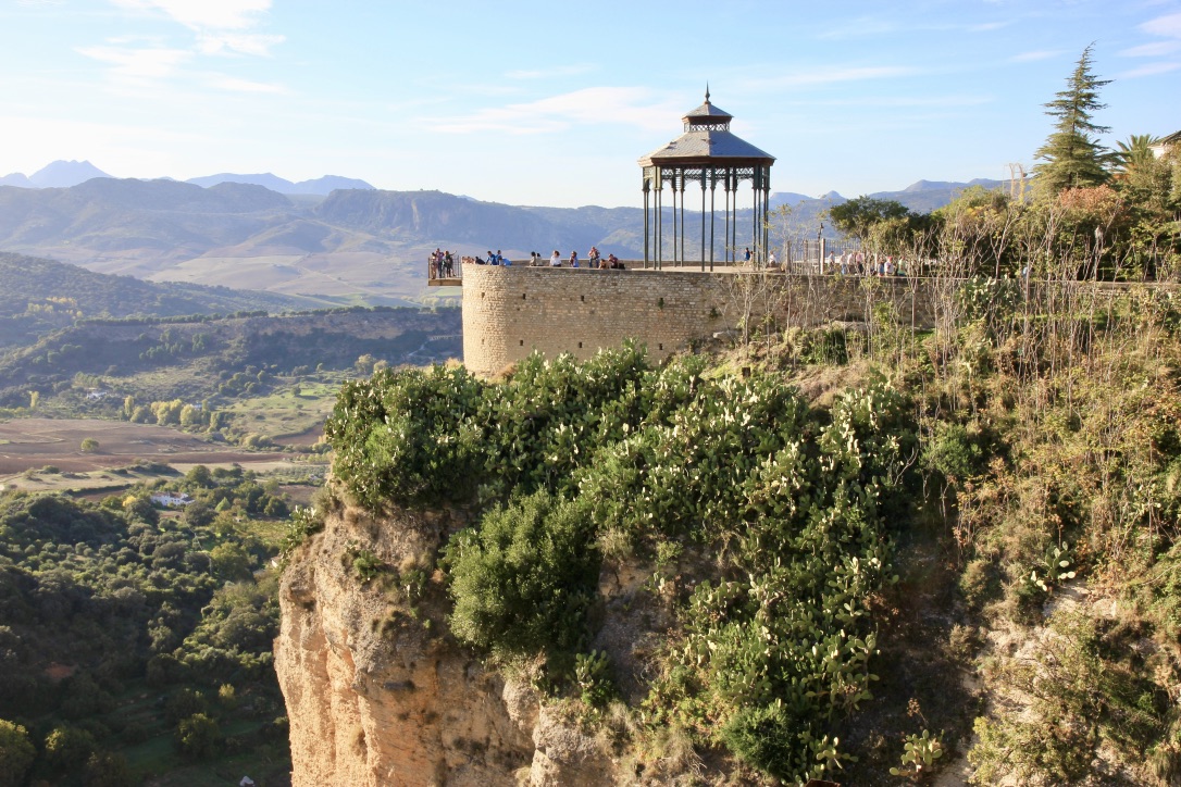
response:
M670 118L679 117L667 101L652 101L644 87L586 87L536 101L488 107L450 118L420 118L419 122L443 133L534 135L565 131L575 124L622 124L648 131L667 130Z

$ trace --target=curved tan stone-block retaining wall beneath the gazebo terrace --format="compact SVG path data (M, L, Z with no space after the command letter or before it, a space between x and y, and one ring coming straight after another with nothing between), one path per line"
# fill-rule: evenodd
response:
M933 323L927 280L732 270L592 270L464 265L463 359L491 376L529 353L589 359L637 339L660 360L722 330L770 317L782 329L862 322L890 303L901 322Z

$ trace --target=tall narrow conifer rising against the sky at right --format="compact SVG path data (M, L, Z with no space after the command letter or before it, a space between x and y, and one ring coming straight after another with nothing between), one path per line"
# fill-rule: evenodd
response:
M1039 188L1046 194L1095 186L1108 179L1108 172L1103 168L1108 153L1100 145L1097 135L1107 133L1110 129L1095 125L1091 116L1107 107L1107 104L1100 104L1098 91L1111 80L1098 79L1091 73L1092 46L1095 45L1090 44L1083 50L1075 73L1066 79L1066 90L1044 105L1045 113L1057 118L1053 133L1035 153L1035 158L1045 162L1038 164L1033 172L1038 176Z

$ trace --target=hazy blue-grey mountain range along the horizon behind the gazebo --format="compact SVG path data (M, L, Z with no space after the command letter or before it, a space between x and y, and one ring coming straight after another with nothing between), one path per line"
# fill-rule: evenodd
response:
M51 176L60 172L43 170L34 177ZM217 178L226 179L213 183ZM598 245L625 260L642 256L644 214L638 208L516 206L441 191L372 188L288 196L267 188L281 181L269 178L274 176L210 176L205 185L94 177L67 188L0 185L0 250L149 281L390 306L442 295L425 286L425 258L435 248L459 255L500 249L521 260L530 251L548 256L559 249L565 255ZM919 181L902 191L870 196L927 211L968 185L997 188L1001 182ZM772 206L790 211L776 218L776 232L815 237L822 211L841 202L844 197L836 192L816 198L777 192ZM749 228L750 218L749 208L739 211L738 227ZM689 228L699 221L690 211L685 219ZM665 225L672 227L671 216ZM696 232L685 235L693 258ZM826 235L833 237L831 228ZM671 235L666 243L671 248Z

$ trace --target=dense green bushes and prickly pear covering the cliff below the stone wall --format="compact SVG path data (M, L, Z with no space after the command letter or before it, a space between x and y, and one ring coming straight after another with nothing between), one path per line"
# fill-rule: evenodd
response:
M814 411L775 375L706 372L652 368L632 346L585 365L535 355L501 385L385 372L345 386L326 433L370 507L478 498L482 524L444 555L451 630L502 661L544 652L557 683L589 649L605 556L696 556L668 586L683 617L647 723L821 776L846 758L834 719L872 696L885 516L906 509L913 454L905 400L879 382Z

